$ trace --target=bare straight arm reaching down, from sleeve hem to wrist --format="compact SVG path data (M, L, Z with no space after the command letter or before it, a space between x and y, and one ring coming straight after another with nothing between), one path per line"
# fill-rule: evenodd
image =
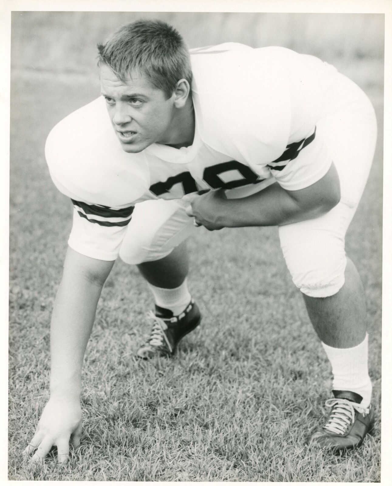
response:
M78 258L74 252L69 256L68 250L51 319L51 394L56 395L80 394L85 348L106 278L91 278L83 266L86 257L80 256L80 262ZM112 263L102 265L108 269L106 275Z

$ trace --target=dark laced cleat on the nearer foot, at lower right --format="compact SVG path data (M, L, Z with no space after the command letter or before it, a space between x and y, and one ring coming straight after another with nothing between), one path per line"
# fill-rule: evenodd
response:
M361 407L362 397L358 393L341 390L332 390L332 393L335 398L325 402L331 407L327 423L322 430L308 437L307 442L334 452L359 447L365 435L373 429L372 405Z

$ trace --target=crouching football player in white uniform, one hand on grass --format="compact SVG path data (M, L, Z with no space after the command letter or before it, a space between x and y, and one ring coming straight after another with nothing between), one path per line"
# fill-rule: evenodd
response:
M99 45L102 96L61 121L46 157L73 226L51 321L51 397L26 452L81 434L81 368L102 286L120 256L155 299L141 358L172 355L201 315L187 288L197 226L278 226L294 284L333 372L311 444L341 450L373 426L365 297L344 251L375 150L374 109L321 60L226 43L188 52L160 21ZM288 323L290 325L290 323Z

